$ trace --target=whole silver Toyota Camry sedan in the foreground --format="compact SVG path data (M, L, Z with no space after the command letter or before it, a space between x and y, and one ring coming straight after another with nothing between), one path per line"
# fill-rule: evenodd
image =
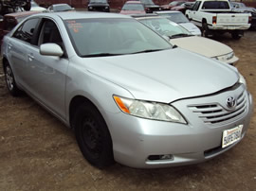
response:
M252 98L238 71L172 46L119 14L28 17L2 45L9 93L74 129L97 167L189 165L245 136Z

